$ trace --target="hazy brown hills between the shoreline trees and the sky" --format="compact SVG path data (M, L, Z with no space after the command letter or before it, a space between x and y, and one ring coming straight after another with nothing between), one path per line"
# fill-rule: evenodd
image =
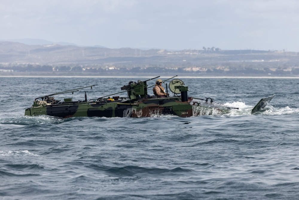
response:
M0 41L0 64L97 64L118 67L219 67L297 66L297 52L258 50L165 50L165 49L109 49L103 46L77 46L51 43L47 40L26 40L26 43ZM262 66L262 67L263 67Z

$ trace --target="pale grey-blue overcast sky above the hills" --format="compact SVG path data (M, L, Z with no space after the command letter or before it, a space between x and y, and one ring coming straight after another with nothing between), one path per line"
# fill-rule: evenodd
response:
M299 52L298 0L1 0L0 40Z

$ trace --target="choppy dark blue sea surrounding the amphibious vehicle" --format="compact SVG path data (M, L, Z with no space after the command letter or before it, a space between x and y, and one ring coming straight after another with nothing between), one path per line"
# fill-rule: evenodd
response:
M239 108L224 115L24 116L36 97L95 85L55 96L94 99L149 78L0 77L0 199L299 198L299 79L178 77L189 96Z

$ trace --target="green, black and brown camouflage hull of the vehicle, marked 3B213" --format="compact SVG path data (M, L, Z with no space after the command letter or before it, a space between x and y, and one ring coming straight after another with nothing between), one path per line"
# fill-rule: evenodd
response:
M179 98L140 99L138 101L70 102L33 105L25 115L68 117L154 117L159 115L193 116L193 106Z

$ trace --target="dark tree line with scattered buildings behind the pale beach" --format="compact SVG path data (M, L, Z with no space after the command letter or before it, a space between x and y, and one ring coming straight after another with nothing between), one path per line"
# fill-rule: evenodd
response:
M232 75L232 74L263 74L263 75L299 75L299 67L292 67L289 70L278 68L252 68L252 67L210 67L208 69L203 67L86 67L86 66L50 66L50 65L32 65L25 66L1 66L0 70L9 70L11 72L82 72L82 73L197 73L197 74L219 74L219 75Z

